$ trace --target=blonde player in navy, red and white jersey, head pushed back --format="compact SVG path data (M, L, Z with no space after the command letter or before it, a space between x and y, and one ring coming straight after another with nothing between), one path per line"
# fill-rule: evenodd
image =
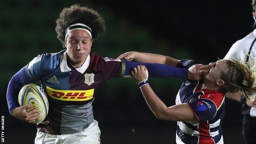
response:
M189 59L173 59L163 55L128 52L118 59L136 59L139 62L169 64L190 68L197 62ZM178 121L177 144L223 144L222 118L224 116L225 93L243 91L247 99L256 92L255 76L247 64L222 59L210 63L210 71L203 80L185 80L176 96L176 105L167 107L151 89L145 79L145 66L137 66L132 75L140 86L151 111L158 119Z

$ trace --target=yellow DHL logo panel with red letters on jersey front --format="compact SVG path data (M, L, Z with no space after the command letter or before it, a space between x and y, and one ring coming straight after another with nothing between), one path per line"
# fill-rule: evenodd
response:
M60 101L88 101L93 98L94 89L88 90L59 90L46 87L46 93Z

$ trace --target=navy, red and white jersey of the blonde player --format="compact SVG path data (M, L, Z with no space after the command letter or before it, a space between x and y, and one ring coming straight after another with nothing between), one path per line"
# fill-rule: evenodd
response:
M194 64L198 63L183 59L178 66L189 68ZM185 80L178 91L176 105L188 103L197 121L178 121L177 144L223 144L225 94L201 87L201 81Z

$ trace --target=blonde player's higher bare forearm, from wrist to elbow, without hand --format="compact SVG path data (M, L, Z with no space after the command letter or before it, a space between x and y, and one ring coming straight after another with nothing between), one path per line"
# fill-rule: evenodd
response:
M176 66L180 60L174 59L172 57L167 57L165 55L158 55L153 53L141 53L134 52L134 59L137 62L146 62L146 63L157 63L157 64L168 64L171 66Z

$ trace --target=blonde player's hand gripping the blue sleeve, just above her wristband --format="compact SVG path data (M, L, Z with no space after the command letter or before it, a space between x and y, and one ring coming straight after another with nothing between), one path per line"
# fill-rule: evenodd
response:
M133 68L133 71L131 71L132 76L135 78L136 82L142 82L146 80L146 66L144 65L138 65Z

